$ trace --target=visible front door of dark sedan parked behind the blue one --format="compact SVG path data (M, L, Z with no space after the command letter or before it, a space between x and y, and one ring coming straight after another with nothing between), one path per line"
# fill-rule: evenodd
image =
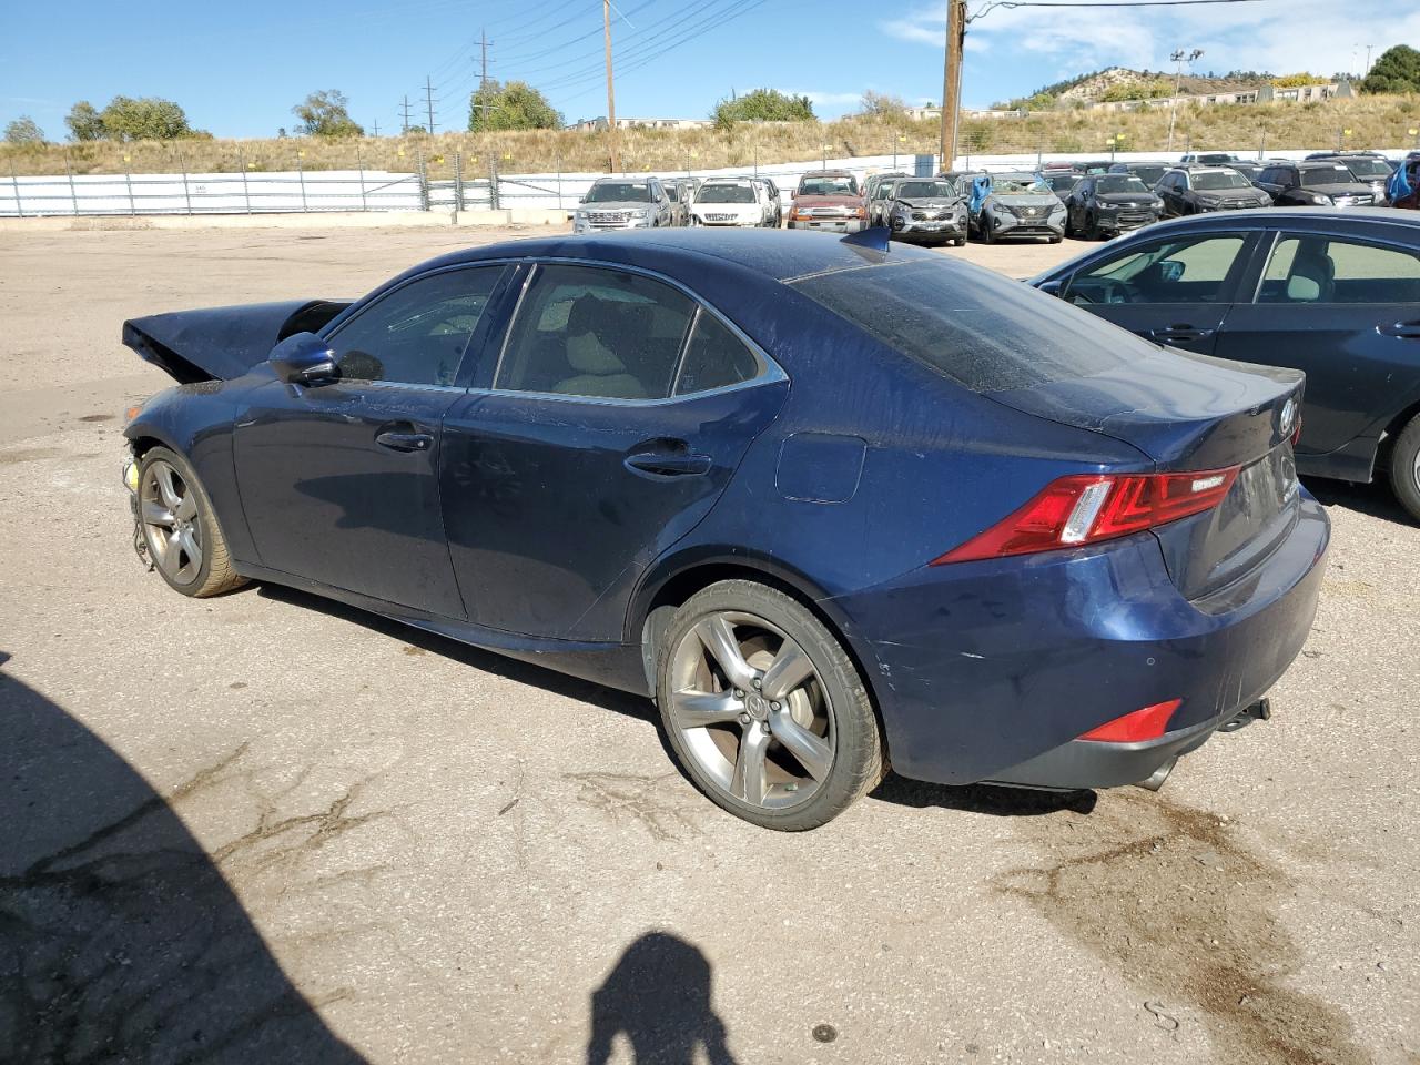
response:
M1194 230L1130 243L1076 270L1061 297L1145 339L1210 355L1255 241Z

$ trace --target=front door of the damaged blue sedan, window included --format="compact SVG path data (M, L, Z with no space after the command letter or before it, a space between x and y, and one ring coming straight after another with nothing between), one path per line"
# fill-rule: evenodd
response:
M504 267L416 277L329 334L339 376L256 389L233 457L261 565L462 618L439 501L440 419Z

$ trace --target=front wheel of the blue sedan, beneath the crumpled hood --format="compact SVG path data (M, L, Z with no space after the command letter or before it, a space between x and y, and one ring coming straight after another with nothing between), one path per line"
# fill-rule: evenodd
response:
M231 568L212 500L176 452L153 447L138 464L138 527L173 591L204 599L246 584Z

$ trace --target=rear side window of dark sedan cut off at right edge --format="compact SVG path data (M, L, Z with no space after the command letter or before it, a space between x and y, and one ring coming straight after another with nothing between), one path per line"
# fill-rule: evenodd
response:
M1272 248L1257 301L1420 302L1420 254L1358 240L1285 237Z

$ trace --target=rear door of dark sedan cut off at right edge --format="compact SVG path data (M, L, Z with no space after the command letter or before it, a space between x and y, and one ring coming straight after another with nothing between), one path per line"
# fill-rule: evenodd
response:
M1228 315L1217 354L1305 371L1298 456L1379 436L1420 398L1420 250L1277 233L1252 298Z

